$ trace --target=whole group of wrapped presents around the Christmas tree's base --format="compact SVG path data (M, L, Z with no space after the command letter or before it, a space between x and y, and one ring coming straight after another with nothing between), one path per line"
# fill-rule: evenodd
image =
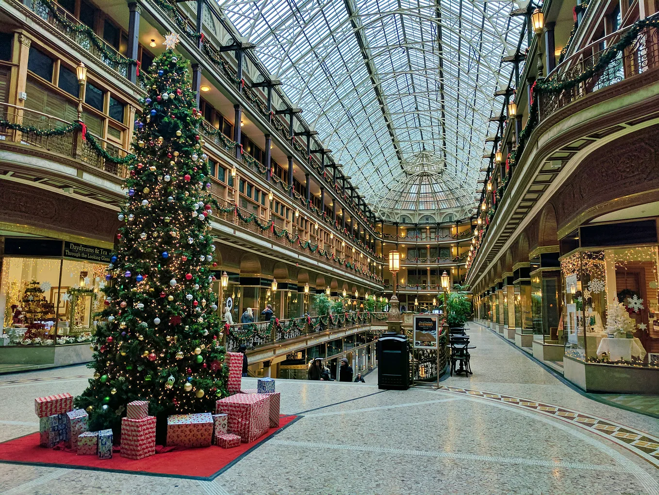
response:
M270 428L279 427L279 392L275 380L259 378L257 389L241 390L243 354L227 353L229 397L215 403L215 414L174 414L167 417L167 446L222 448L254 442ZM78 455L112 457L112 430L88 431L88 414L73 409L70 393L34 399L40 418L40 445L60 442ZM149 416L148 401L133 401L121 419L121 457L143 459L156 453L156 417Z

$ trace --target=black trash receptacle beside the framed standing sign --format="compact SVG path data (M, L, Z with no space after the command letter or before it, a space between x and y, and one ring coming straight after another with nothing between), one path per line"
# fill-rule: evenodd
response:
M378 339L378 388L407 390L410 353L406 335L386 332Z

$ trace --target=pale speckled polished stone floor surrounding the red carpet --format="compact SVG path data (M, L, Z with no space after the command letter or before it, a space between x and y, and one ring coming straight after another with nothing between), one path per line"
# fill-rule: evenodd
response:
M488 329L469 334L473 376L440 390L379 391L375 373L278 380L282 413L304 417L212 481L0 464L0 495L659 495L658 419L584 397ZM88 376L0 376L0 441L38 429L34 397L79 393Z

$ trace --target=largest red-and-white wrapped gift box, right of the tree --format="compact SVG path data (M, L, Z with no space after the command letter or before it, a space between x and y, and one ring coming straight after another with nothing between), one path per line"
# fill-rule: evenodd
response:
M270 394L237 393L219 399L215 413L229 414L229 433L239 435L245 444L253 442L270 428Z

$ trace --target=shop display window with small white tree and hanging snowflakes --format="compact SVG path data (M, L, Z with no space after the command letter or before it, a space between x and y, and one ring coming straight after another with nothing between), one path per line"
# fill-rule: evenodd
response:
M566 355L659 367L657 256L657 246L635 246L561 259Z

